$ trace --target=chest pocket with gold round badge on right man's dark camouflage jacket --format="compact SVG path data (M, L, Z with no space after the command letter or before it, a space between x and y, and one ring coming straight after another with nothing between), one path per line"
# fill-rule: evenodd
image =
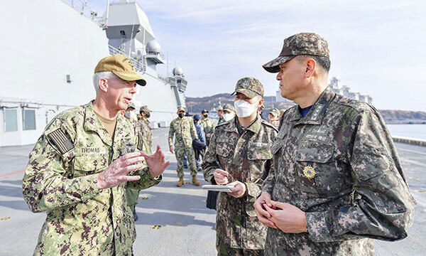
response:
M339 172L332 156L334 146L302 141L293 154L296 183L301 191L329 197L351 187L350 173Z

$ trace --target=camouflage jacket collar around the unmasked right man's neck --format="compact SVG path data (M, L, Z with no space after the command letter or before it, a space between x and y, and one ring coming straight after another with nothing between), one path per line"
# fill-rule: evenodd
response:
M322 119L324 118L325 111L329 103L333 100L336 94L327 87L324 92L318 97L317 102L312 105L311 109L305 117L302 117L297 107L294 108L294 113L292 121L299 120L297 124L322 124Z

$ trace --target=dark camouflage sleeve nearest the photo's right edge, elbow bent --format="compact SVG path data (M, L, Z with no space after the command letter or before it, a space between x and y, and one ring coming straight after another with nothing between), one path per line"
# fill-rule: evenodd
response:
M392 138L376 111L356 118L351 154L353 202L337 209L306 213L315 242L368 237L400 240L413 224L415 200L410 194Z

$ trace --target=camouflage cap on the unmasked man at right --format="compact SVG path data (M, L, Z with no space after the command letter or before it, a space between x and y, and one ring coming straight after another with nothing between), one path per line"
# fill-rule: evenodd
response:
M297 33L284 39L280 55L263 65L263 68L269 73L278 73L280 64L288 62L297 55L316 55L329 58L328 43L316 33Z

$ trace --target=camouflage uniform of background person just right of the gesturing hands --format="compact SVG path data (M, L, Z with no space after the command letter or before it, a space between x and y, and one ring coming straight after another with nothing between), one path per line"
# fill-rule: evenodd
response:
M198 139L197 130L191 117L176 118L170 122L169 146L173 145L173 135L175 135L175 156L178 161L178 177L183 177L183 154L186 153L188 162L190 163L190 171L192 176L197 175L197 166L195 164L194 149L192 149L192 137Z

